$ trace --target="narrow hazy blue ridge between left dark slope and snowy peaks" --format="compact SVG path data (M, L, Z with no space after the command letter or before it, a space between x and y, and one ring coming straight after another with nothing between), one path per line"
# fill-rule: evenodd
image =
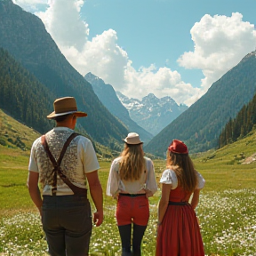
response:
M153 138L152 134L141 128L131 119L128 110L118 100L112 85L105 84L100 77L94 76L91 72L86 74L84 78L92 84L92 89L102 104L127 127L129 132L139 133L141 140L145 142L144 145Z

